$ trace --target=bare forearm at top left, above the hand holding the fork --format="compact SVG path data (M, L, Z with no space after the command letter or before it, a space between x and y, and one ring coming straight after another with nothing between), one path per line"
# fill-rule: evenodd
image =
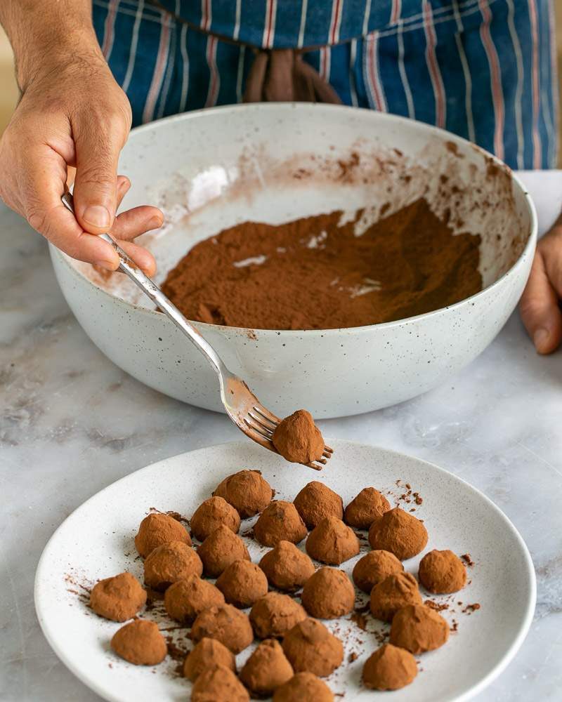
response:
M91 0L1 0L0 24L14 55L18 85L84 57L103 60L91 21Z

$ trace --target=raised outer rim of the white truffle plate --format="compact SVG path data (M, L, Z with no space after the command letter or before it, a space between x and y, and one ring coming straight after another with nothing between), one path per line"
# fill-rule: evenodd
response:
M414 461L417 461L418 463L423 463L426 466L429 466L433 470L437 470L438 472L441 472L447 477L452 477L452 479L462 483L466 488L469 490L475 492L480 498L483 498L483 501L487 503L488 508L491 508L506 524L508 527L509 531L511 531L511 534L516 538L516 541L518 542L518 545L521 548L521 552L523 553L524 559L525 559L525 566L527 569L527 576L529 580L529 585L530 585L530 592L529 592L529 598L528 598L528 603L527 607L525 609L525 615L523 616L521 620L521 624L519 625L518 628L518 633L514 637L514 640L511 642L509 648L505 652L504 656L502 659L495 665L492 670L488 673L488 675L485 675L481 680L476 682L472 687L464 691L464 693L454 696L454 697L447 697L445 698L445 702L466 702L469 699L472 699L475 697L478 693L483 691L486 687L488 687L494 680L497 680L499 675L502 675L504 670L506 670L507 666L511 661L513 661L514 657L518 653L519 649L521 649L521 646L523 645L523 641L528 635L530 625L532 623L533 617L535 615L535 607L537 604L537 577L535 574L535 565L532 562L532 557L530 555L530 551L528 549L527 544L525 543L523 536L519 533L518 529L516 528L515 524L511 522L511 519L505 514L505 512L500 509L495 502L493 502L487 495L485 495L481 490L478 488L474 487L471 485L469 482L464 480L462 477L459 477L458 475L455 475L455 473L451 472L450 470L447 470L446 468L441 468L440 465L436 465L436 463L432 463L431 461L426 461L424 458L418 458L417 456L412 456L410 453L404 453L403 451L396 451L396 449L387 449L384 446L377 446L375 444L366 444L365 442L356 442L356 441L349 441L348 439L327 439L327 441L330 443L330 445L334 446L334 444L337 446L338 444L345 444L347 446L356 446L360 448L367 448L367 449L376 449L377 451L384 451L384 453L389 453L393 456L399 456L400 458L410 458L413 459ZM91 500L94 498L98 498L98 496L101 496L105 493L105 491L109 490L110 488L113 488L117 484L124 482L128 479L130 479L133 476L138 475L139 473L142 472L148 472L148 470L152 470L152 468L155 468L155 466L159 465L159 463L164 463L165 461L171 461L174 459L181 458L182 456L187 456L188 454L192 453L199 453L199 452L204 452L204 451L209 451L209 449L216 449L218 447L226 448L229 446L230 448L234 448L237 446L247 446L247 442L244 440L238 440L238 441L228 441L228 442L220 442L218 444L209 444L208 446L201 446L198 449L192 449L191 451L183 451L182 453L176 453L173 456L166 456L166 458L161 458L159 461L155 461L154 463L149 463L148 465L143 466L143 468L138 468L138 470L134 470L131 473L128 473L127 475L124 475L117 480L111 482L110 484L106 485L103 487L101 490L98 490L96 493L91 495L89 498L84 500L80 505L78 505L77 508L72 510L70 512L70 515L67 515L65 519L63 519L63 522L61 522L58 527L53 531L53 534L51 534L50 538L48 539L46 545L44 546L44 549L41 552L41 556L39 557L39 561L37 562L37 568L35 570L35 576L34 576L34 588L33 588L33 602L34 602L34 609L35 609L35 614L37 616L37 621L39 621L39 626L41 627L41 632L43 633L44 637L46 638L49 646L51 646L51 649L55 652L56 656L58 656L59 660L65 665L65 667L70 670L70 672L75 675L86 687L91 689L93 692L98 694L102 699L107 700L108 702L121 702L121 698L119 696L115 696L113 694L108 694L107 690L102 689L101 687L98 687L96 684L95 680L92 680L91 677L88 677L84 673L82 673L82 669L78 668L72 661L70 661L69 658L67 658L65 651L61 649L61 647L58 646L58 643L55 642L53 637L50 635L50 631L47 628L46 621L44 618L44 614L41 611L41 600L43 597L43 594L41 593L41 576L42 576L42 571L46 569L46 564L47 564L47 559L49 555L49 550L52 548L52 544L57 538L59 532L63 529L65 526L66 522L71 519L71 517L74 517L74 515L79 512L79 510L86 508L86 505L89 504Z

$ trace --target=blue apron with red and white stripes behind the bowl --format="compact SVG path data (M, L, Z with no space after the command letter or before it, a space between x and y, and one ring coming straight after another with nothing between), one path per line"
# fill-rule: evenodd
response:
M346 105L554 168L554 0L93 0L133 123L241 102L256 49L299 49Z

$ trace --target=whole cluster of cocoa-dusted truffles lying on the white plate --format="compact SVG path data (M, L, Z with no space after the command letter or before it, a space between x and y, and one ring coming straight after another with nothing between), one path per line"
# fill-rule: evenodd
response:
M167 614L191 627L195 647L183 673L194 682L192 700L247 700L248 690L254 696L273 694L277 702L332 700L320 677L341 665L344 648L317 619L349 614L355 606L353 583L370 595L372 615L391 623L389 643L365 663L365 687L398 689L412 682L413 656L442 646L449 633L443 617L424 606L416 578L402 564L425 548L424 524L391 509L373 487L360 491L345 509L341 497L320 482L306 485L292 503L273 496L259 471L228 476L192 515L191 536L201 542L196 548L170 515L150 514L139 527L135 544L145 559L145 585L164 592ZM254 538L273 547L259 564L251 562L237 535L241 519L256 514ZM332 566L358 555L353 529L368 529L373 550L355 564L352 583ZM303 552L296 544L307 535ZM325 565L316 570L311 558ZM455 592L466 583L466 570L451 551L433 550L421 559L419 581L429 592ZM291 594L301 588L299 604ZM97 583L91 607L122 622L136 616L146 597L136 578L123 573ZM241 611L247 608L249 614ZM261 643L237 677L235 655L254 638ZM157 625L138 618L117 631L111 646L141 665L166 656Z

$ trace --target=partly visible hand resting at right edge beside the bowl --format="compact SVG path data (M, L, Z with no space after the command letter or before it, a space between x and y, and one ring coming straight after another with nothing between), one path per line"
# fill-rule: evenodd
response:
M562 340L562 217L540 239L519 309L521 319L541 354L555 351Z

